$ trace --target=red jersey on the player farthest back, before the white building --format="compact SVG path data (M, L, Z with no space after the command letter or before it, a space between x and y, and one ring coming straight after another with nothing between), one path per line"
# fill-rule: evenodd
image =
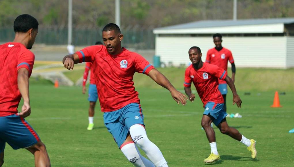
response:
M216 48L209 49L206 55L206 63L217 65L218 67L228 70L228 61L234 63L233 55L227 48L222 48L220 51ZM220 84L225 84L224 80L218 80Z

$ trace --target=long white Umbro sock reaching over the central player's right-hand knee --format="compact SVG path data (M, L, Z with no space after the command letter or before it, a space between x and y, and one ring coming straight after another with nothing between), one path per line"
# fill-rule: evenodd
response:
M161 151L148 139L146 130L141 124L135 124L131 126L130 134L133 141L146 153L148 158L152 163L154 163L155 166L168 166Z

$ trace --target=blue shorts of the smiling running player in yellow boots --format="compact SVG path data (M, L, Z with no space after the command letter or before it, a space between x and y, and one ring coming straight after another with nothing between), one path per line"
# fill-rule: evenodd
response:
M208 115L212 118L212 122L218 126L220 122L227 116L228 114L223 109L223 103L215 103L208 102L204 107L204 115Z

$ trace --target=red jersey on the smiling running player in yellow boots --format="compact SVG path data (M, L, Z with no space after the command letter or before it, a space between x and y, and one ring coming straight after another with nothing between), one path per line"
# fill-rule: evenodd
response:
M184 87L191 87L193 82L203 107L207 102L223 103L223 96L218 90L218 79L224 80L226 76L227 72L216 65L203 63L199 70L195 70L191 64L185 71Z

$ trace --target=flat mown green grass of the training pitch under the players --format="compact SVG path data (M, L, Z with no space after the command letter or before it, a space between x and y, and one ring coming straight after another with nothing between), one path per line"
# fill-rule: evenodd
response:
M200 99L197 97L195 102L181 106L165 89L139 88L137 91L148 137L161 149L169 166L206 166L203 159L209 155L210 146L201 130ZM214 127L221 155L215 166L293 166L294 134L288 131L294 128L294 93L280 96L283 108L270 108L274 96L271 91L259 96L239 94L242 108L231 105L229 93L228 113L238 112L243 118L228 118L228 124L257 141L257 159L250 158L246 146ZM95 129L86 130L89 103L87 96L81 94L81 87L56 89L52 85L31 85L30 96L32 113L27 121L46 144L52 166L132 166L104 127L99 106ZM25 149L12 150L8 144L4 161L4 167L34 166L31 153Z

